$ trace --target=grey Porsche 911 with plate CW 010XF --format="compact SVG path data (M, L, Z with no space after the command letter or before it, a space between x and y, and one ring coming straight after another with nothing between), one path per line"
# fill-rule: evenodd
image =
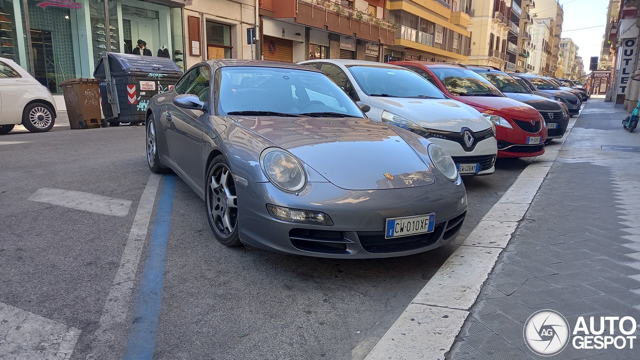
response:
M150 101L148 166L189 184L228 246L384 258L454 240L467 195L451 156L368 108L304 65L204 61Z

